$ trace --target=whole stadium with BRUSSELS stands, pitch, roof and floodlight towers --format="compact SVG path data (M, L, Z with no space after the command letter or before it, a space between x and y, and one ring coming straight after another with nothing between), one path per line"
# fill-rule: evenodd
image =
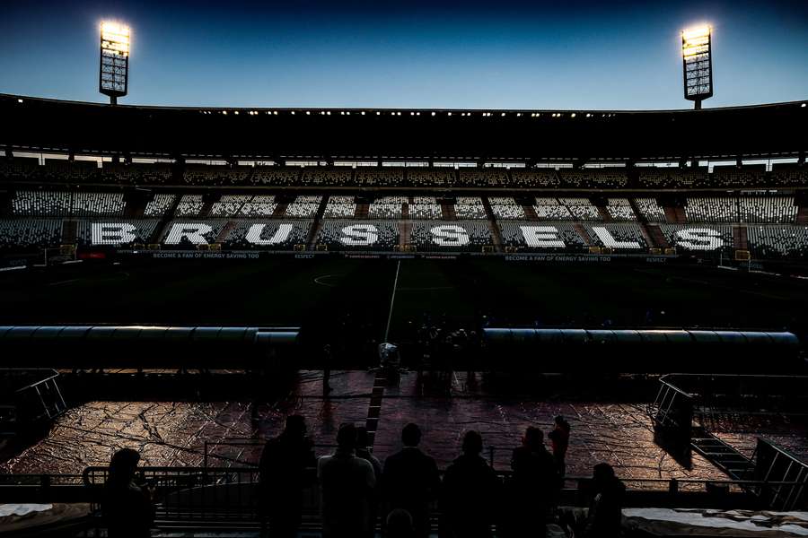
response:
M0 94L0 534L808 534L808 101L703 108L711 31L695 108L127 104L111 23L109 104ZM273 482L298 419L324 458ZM346 447L372 493L327 492Z

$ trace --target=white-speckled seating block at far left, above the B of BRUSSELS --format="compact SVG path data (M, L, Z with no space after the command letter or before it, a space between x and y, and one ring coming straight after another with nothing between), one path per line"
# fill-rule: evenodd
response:
M31 216L122 215L123 193L17 191L12 213Z

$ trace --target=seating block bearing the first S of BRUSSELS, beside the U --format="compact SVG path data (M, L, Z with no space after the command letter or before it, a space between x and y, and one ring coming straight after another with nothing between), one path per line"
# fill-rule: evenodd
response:
M399 245L396 221L322 221L315 241L334 250L395 250Z

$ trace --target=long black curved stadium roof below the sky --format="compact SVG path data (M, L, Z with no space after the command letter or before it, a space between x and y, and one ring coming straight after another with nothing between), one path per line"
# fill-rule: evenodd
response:
M808 149L803 101L703 110L170 108L0 94L15 151L262 160L676 161Z

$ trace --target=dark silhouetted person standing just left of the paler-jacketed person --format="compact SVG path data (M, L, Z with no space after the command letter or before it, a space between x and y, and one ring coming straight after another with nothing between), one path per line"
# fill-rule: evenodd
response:
M269 519L272 536L297 534L303 489L312 484L310 469L316 465L312 440L306 437L305 419L289 415L284 431L268 440L259 463L261 512ZM263 523L262 519L262 527Z

